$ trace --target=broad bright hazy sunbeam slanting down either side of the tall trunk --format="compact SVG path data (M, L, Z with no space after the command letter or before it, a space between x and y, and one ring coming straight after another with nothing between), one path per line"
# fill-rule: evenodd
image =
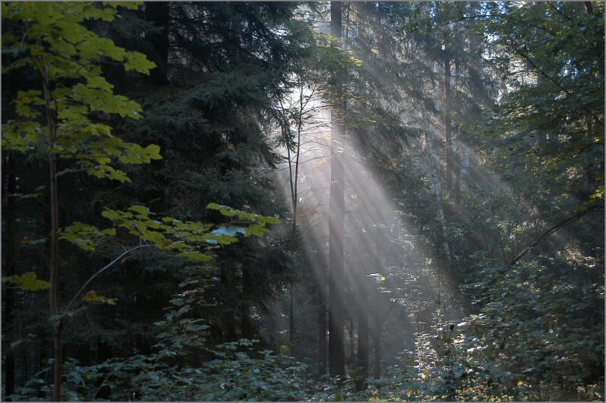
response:
M329 117L325 110L316 111L312 123L302 130L299 155L297 229L306 250L306 261L319 277L318 284L327 282L330 157L337 148L330 138L330 128L327 128ZM416 321L415 328L410 317L418 318L421 310L433 310L437 296L441 296L439 305L443 305L443 311L448 314L445 320L456 321L462 317L457 284L448 268L424 248L414 229L415 222L410 219L413 214L401 211L394 201L397 190L387 188L378 178L372 159L355 141L352 130L347 131L339 151L343 151L346 161L344 286L350 298L350 303L346 304L346 321L353 326L357 311L361 309L360 301L369 304L371 317L383 317L377 324L379 332L383 331L381 326L385 321L397 322L402 329L398 335L387 335L383 346L390 350L412 351L415 332L427 329L424 325L419 327L421 320ZM409 150L410 153L421 151L413 147ZM287 165L285 162L280 169L282 183L288 183L288 173L293 172ZM415 168L418 175L427 176L427 164L420 158L417 158ZM326 298L327 291L323 289L320 295ZM424 301L422 306L411 306L411 301L419 299ZM376 332L373 334L378 337ZM347 351L353 351L351 343L355 340L346 340ZM348 356L348 362L351 360L353 357ZM397 359L383 358L382 365L395 364Z

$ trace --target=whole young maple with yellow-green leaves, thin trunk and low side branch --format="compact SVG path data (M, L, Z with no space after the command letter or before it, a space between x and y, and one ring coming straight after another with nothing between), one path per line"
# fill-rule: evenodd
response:
M3 52L13 54L8 70L31 69L38 75L38 88L19 91L15 100L15 121L3 124L3 149L27 152L40 148L47 155L50 173L50 274L49 281L38 280L35 273L6 277L21 289L37 291L49 289L49 307L54 339L53 381L56 401L62 400L61 372L63 365L63 333L66 315L85 287L107 268L116 264L125 254L155 245L190 259L207 260L207 252L194 245L220 245L236 241L237 234L262 234L260 227L223 226L211 232L212 226L163 218L152 220L147 208L133 206L128 211L105 211L128 233L137 236L140 245L127 249L110 264L96 272L70 303L59 305L59 240L69 241L84 250L94 250L99 238L113 236L115 229L99 230L81 222L59 228L57 177L82 170L98 178L130 181L125 172L112 165L142 164L159 159L159 148L153 144L142 147L126 143L111 134L110 126L99 123L102 114L119 114L140 119L140 106L124 96L114 95L113 86L101 75L100 63L114 61L124 64L126 70L149 73L154 64L136 52L126 52L111 40L100 38L86 29L85 19L111 21L119 4L98 8L91 3L6 3L3 18L10 31L3 35ZM138 5L128 3L135 8ZM57 172L58 159L75 160L73 167ZM44 188L44 186L40 186ZM232 211L212 205L221 213L239 219L258 222L255 215ZM259 216L261 217L261 216ZM272 219L273 220L273 219ZM272 221L270 220L270 221ZM275 220L274 220L275 221ZM111 298L98 296L94 291L85 294L84 301L114 304Z

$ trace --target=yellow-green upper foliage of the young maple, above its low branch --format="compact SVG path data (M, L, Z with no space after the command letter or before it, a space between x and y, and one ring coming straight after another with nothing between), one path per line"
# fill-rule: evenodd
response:
M136 8L140 3L120 3ZM124 96L102 75L99 63L124 63L124 68L149 74L154 63L144 54L128 52L108 38L101 38L83 25L85 20L112 21L119 3L98 6L87 2L2 3L3 22L13 28L2 37L3 53L13 54L12 63L3 70L45 69L50 100L40 90L19 91L10 104L18 121L2 126L2 146L27 152L49 144L47 126L56 128L52 150L61 158L80 160L78 168L98 178L130 181L126 173L112 163L149 163L161 158L156 145L145 148L112 139L111 128L93 123L90 112L141 119L141 107ZM66 81L67 79L70 79ZM72 84L68 84L72 83ZM85 84L84 84L85 83ZM41 85L40 85L41 87ZM47 105L48 103L48 105ZM45 121L45 109L52 111ZM40 121L40 122L38 122ZM99 140L99 137L104 137ZM63 172L71 172L67 167Z

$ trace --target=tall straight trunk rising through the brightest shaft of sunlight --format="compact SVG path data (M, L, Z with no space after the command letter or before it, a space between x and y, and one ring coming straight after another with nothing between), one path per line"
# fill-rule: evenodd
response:
M335 39L333 46L341 43L341 1L330 3L330 32ZM334 77L339 82L341 77ZM329 232L329 307L328 307L328 370L332 377L345 377L345 340L343 334L344 307L344 255L343 227L345 218L345 183L343 170L344 112L343 89L334 84L331 111L332 158L330 160L330 194L328 204Z

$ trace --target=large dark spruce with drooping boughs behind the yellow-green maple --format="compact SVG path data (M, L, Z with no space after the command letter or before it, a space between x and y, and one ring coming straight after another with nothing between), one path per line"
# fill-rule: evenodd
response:
M170 36L162 38L168 43L147 35L157 28L143 25L145 36L136 32L141 22L103 28L114 38L131 38L129 47L150 59L169 49L168 84L139 77L123 86L146 114L121 125L121 131L128 141L160 145L163 159L138 169L138 181L121 189L119 197L145 201L154 211L193 221L223 219L206 210L210 202L268 216L288 215L274 178L283 160L281 150L274 148L281 142L275 133L282 124L280 101L292 91L293 74L303 64L308 24L295 20L295 3L174 2L166 7ZM150 13L144 8L138 17L151 22ZM130 26L135 32L127 35L124 29ZM217 43L216 38L223 39ZM245 240L220 252L218 271L206 271L221 280L209 286L209 303L215 305L195 312L207 319L213 342L234 340L242 331L260 338L267 305L281 298L288 278L293 284L299 281L297 245L290 235L280 234L271 243ZM133 270L145 273L149 288L157 287L168 303L177 292L169 287L182 281L175 265L161 257L139 260L131 260ZM159 273L163 287L157 285ZM125 290L122 298L140 307L137 329L152 327L160 319L143 314L149 305L163 305L149 293Z

